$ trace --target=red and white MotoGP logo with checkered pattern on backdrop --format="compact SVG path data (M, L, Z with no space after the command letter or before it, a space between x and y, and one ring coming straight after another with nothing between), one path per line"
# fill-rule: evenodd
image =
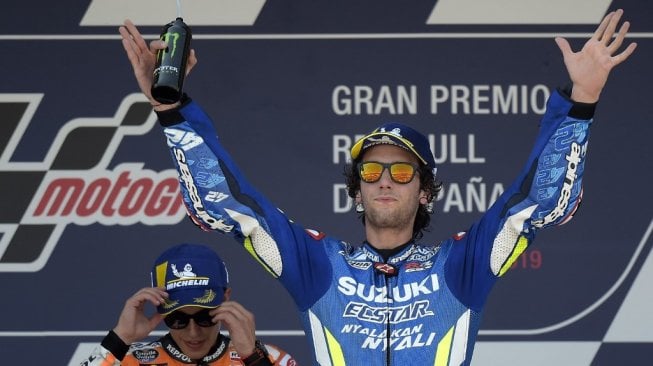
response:
M155 125L141 94L125 97L113 117L67 122L42 161L17 161L42 97L0 94L0 272L42 269L69 224L173 225L184 218L174 169L112 163L124 137Z

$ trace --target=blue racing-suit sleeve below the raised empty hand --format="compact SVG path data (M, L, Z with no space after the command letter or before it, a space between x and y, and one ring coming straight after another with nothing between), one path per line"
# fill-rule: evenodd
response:
M517 179L467 233L447 242L447 284L472 309L482 308L539 229L564 224L576 211L593 113L593 104L574 104L555 91Z

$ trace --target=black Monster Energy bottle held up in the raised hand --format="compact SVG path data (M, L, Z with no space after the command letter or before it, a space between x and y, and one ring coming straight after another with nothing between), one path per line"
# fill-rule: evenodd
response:
M161 40L168 46L156 55L152 82L152 97L160 103L173 104L181 99L191 38L190 28L181 17L161 31Z

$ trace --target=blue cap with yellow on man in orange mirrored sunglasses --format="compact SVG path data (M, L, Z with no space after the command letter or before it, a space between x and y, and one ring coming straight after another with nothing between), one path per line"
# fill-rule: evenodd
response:
M402 147L417 156L430 169L435 169L435 159L428 138L401 123L386 123L356 141L351 148L351 158L356 160L365 149L375 145L390 144Z

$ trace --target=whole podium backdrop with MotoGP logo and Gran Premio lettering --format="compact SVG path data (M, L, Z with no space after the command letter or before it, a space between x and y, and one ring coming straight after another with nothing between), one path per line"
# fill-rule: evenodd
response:
M182 1L199 63L185 89L290 217L357 243L344 190L355 140L428 134L445 182L428 242L464 231L526 160L548 95L625 9L639 47L596 110L583 204L491 294L473 365L642 365L653 353L653 5L636 0ZM14 1L0 24L0 363L78 364L165 248L227 261L259 336L308 364L294 303L231 238L186 219L164 137L118 26L148 40L173 0ZM153 337L163 334L160 328Z

